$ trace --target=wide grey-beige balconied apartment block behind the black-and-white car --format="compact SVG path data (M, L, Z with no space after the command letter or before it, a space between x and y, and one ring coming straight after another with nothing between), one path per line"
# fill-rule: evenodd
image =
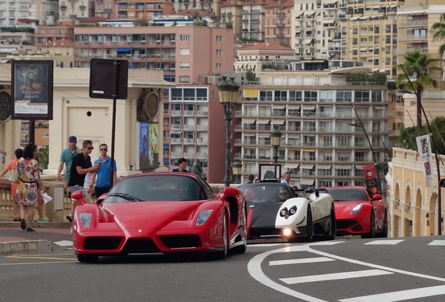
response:
M273 128L283 134L281 176L290 171L298 187L365 185L362 166L386 164L386 86L346 82L346 72L369 69L258 72L259 85L242 87L234 115L240 119L234 159L243 163L244 178L259 175L262 164L273 164ZM380 169L382 182L383 173Z

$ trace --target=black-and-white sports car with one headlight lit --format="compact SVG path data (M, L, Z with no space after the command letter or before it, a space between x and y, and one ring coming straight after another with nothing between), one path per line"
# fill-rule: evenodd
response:
M311 241L315 235L335 238L335 212L329 194L316 189L297 195L279 182L248 183L238 187L248 203L248 238L287 238Z

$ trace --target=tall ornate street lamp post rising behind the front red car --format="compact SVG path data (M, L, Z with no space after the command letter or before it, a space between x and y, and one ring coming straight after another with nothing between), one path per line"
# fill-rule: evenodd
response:
M232 124L232 111L238 101L239 86L234 82L234 78L227 81L227 77L223 76L218 87L218 96L221 105L224 106L225 113L225 177L224 186L230 185L230 124Z

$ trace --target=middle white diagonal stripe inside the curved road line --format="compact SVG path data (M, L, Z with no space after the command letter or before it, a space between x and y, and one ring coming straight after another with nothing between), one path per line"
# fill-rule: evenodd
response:
M393 273L381 270L366 270L366 271L350 271L344 273L330 273L323 275L308 275L308 276L293 277L293 278L282 278L280 280L285 282L286 284L299 284L307 282L342 280L349 278L362 278L362 277L371 277L376 275L390 275L390 274Z

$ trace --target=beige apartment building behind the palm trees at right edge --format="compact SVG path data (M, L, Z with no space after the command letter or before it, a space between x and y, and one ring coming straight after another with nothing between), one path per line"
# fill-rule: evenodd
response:
M440 59L437 50L444 41L434 41L430 31L432 24L439 22L440 15L445 13L445 3L441 0L428 0L419 3L415 0L406 0L405 5L397 10L397 28L399 31L397 44L397 63L404 62L404 55L408 50L418 49L428 52L432 59ZM440 66L440 60L437 66ZM443 67L443 66L442 66ZM402 71L400 71L402 72ZM428 115L428 120L445 116L444 106L437 106L445 98L444 73L434 73L432 77L437 80L439 87L425 87L422 94L422 105ZM414 126L416 120L416 95L397 93L404 101L404 126ZM423 117L424 119L424 117Z

